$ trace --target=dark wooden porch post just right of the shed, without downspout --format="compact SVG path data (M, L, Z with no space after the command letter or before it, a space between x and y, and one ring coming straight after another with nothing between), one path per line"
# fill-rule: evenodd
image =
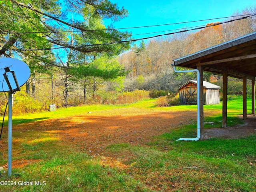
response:
M227 127L228 72L223 73L222 94L222 127Z

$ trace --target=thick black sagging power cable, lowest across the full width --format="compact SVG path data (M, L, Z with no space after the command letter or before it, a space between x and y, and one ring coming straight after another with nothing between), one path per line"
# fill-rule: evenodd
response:
M193 28L193 29L181 30L181 31L178 31L178 32L171 32L171 33L160 34L160 35L156 35L156 36L150 36L150 37L144 37L144 38L138 38L138 39L132 39L132 40L108 42L108 43L103 43L103 44L88 44L88 45L81 45L81 46L61 46L61 47L56 47L56 48L35 48L35 49L7 49L7 50L2 50L2 51L8 51L8 50L13 50L13 51L57 50L57 49L62 49L62 48L71 48L72 49L72 48L83 48L83 47L89 47L89 46L104 46L104 45L110 45L110 44L135 42L135 41L139 41L139 40L146 40L146 39L156 38L156 37L160 37L160 36L172 35L172 34L176 34L176 33L182 33L182 32L188 32L188 31L192 31L192 30L200 30L200 29L204 29L204 28L208 28L208 27L212 27L212 26L218 26L218 25L221 25L221 24L224 24L224 23L229 23L229 22L234 22L234 21L237 21L237 20L242 20L242 19L246 19L246 18L249 18L249 17L252 17L252 16L256 16L256 13L255 14L250 14L249 16L237 18L237 19L234 19L234 20L219 22L219 23L215 23L215 24L211 24L211 25L207 25L207 26L196 27L196 28Z

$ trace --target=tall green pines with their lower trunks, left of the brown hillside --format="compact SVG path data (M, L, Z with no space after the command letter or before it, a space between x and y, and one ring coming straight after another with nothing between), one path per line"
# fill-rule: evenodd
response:
M27 94L38 98L36 87L50 80L52 99L62 96L67 106L78 85L85 99L88 86L94 96L103 82L125 76L116 56L130 43L108 42L130 39L130 32L112 26L126 16L109 0L0 0L0 57L28 64ZM105 26L104 19L112 24Z

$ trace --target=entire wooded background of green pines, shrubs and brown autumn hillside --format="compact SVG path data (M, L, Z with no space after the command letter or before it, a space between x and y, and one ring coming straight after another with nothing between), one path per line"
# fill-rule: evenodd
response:
M106 0L0 1L0 57L19 58L31 70L26 86L14 94L16 113L48 110L50 104L118 103L124 97L148 96L138 90L177 92L188 80L196 80L196 74L174 73L174 59L256 31L256 18L251 16L136 45L130 32L104 25L105 18L114 23L127 13ZM252 6L228 20L255 13ZM123 42L109 43L118 41ZM222 86L221 76L204 78ZM232 81L229 93L241 94L240 80ZM5 93L0 93L1 113L5 104Z

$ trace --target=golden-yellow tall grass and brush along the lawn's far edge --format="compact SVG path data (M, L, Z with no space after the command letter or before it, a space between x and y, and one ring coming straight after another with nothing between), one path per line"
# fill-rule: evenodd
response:
M131 104L144 99L149 98L148 91L145 90L135 90L132 92L106 92L99 91L96 99L88 101L90 104ZM0 99L0 115L4 114L4 109L8 99ZM48 99L40 98L40 100L34 99L33 97L26 94L24 90L16 92L14 94L14 102L12 113L14 115L36 113L36 112L46 112L49 111L49 106L55 104L58 108L62 106L62 101L58 99ZM83 100L80 98L73 98L70 102L70 106L79 106L83 104ZM8 112L8 110L7 110Z

